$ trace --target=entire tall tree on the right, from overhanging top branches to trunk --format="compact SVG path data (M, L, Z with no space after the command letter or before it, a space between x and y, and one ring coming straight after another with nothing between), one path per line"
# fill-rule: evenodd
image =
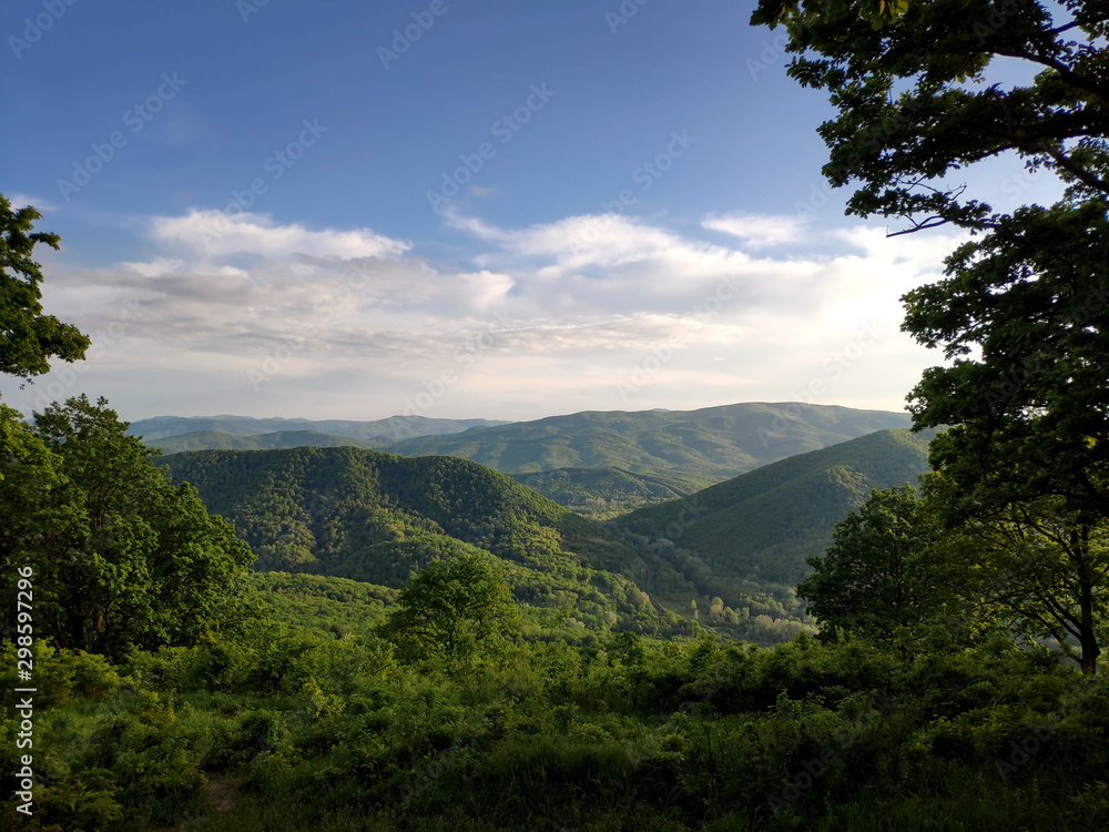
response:
M1109 6L761 0L753 22L786 26L790 73L838 108L821 126L824 173L857 182L848 213L979 234L948 257L946 280L904 298L903 328L950 362L909 395L914 428L950 428L929 453L953 486L949 522L1007 517L1037 545L1055 540L1059 557L1024 562L1040 591L1054 588L1054 620L1069 620L1095 672L1096 541L1109 520ZM1029 79L994 82L1001 58ZM955 175L1000 155L1052 172L1065 197L1011 214L973 199ZM1029 525L1044 506L1050 521Z

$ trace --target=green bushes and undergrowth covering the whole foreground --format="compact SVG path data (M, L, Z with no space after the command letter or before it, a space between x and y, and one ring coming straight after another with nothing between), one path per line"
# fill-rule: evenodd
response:
M189 670L230 649L237 678ZM59 661L73 657L37 666L60 679L71 671ZM35 711L49 783L28 829L691 832L929 818L1000 832L1105 820L1109 757L1089 741L1109 729L1105 684L1004 638L905 657L858 638L755 649L621 633L601 649L506 645L459 673L288 621L233 645L87 664L108 683Z

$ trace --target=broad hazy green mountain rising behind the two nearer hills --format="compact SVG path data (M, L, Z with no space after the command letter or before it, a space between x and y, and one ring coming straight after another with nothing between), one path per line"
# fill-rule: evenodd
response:
M607 519L779 459L909 424L902 413L756 402L551 416L406 439L389 451L471 459L582 516Z

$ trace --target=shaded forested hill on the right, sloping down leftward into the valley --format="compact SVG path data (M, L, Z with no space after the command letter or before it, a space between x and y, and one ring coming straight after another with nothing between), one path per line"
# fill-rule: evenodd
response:
M793 586L808 571L805 558L824 554L836 521L872 488L916 485L934 435L882 430L639 509L613 525L699 588L700 572Z

